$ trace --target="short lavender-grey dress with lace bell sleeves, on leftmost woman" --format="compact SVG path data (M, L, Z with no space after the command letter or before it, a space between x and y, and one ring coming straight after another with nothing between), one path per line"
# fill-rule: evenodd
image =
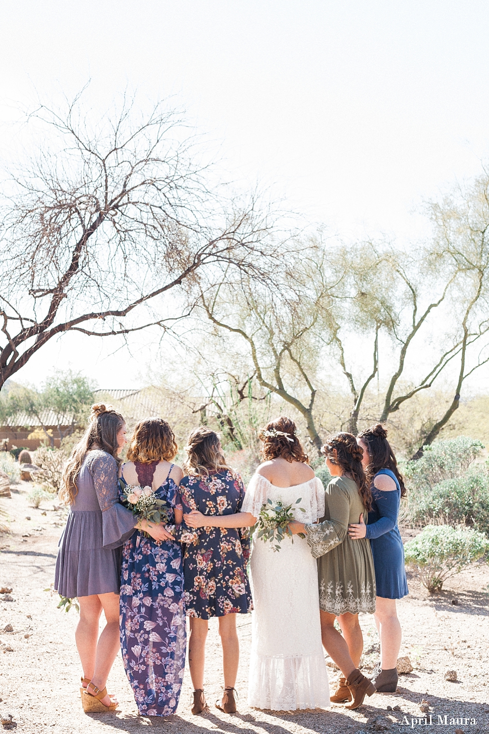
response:
M119 593L122 546L134 533L134 515L119 504L117 462L88 451L59 539L54 588L65 597Z

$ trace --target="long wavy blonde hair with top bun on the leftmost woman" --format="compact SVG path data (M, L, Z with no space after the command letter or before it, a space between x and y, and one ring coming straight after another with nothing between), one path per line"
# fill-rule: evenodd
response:
M117 456L117 433L125 424L124 418L112 405L96 403L91 407L88 417L88 427L84 435L73 446L70 458L63 472L61 488L58 493L60 501L71 504L78 494L78 476L87 454L93 446L113 456L117 466L122 463Z

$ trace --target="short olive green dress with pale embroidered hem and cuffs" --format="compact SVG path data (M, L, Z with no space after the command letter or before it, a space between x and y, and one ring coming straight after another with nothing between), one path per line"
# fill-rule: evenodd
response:
M319 524L305 526L311 553L318 559L319 606L330 614L373 614L375 571L370 541L352 540L348 524L367 522L357 484L347 476L336 476L327 485L325 517Z

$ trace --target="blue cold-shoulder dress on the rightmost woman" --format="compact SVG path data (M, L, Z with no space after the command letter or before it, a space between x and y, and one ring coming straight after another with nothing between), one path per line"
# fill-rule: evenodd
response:
M404 545L397 526L401 487L390 469L380 469L375 476L387 474L396 482L397 490L383 492L372 484L372 509L366 538L370 540L374 557L377 596L383 599L402 599L409 594L406 579ZM375 477L374 477L375 479Z

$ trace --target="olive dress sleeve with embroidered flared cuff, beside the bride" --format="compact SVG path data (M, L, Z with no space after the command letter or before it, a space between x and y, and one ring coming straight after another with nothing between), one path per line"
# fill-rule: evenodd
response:
M330 520L324 520L319 524L307 523L304 526L314 558L332 551L347 537L349 495L339 484L333 482L327 485L326 494Z

